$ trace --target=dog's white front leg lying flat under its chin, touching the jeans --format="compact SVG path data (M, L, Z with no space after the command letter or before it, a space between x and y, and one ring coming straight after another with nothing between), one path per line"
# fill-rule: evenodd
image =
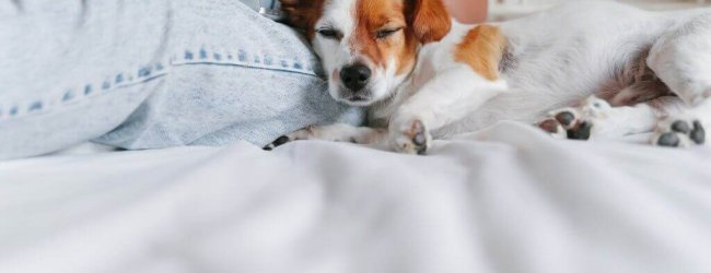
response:
M385 132L385 129L381 128L354 127L345 123L314 126L301 129L287 135L282 135L264 149L272 150L276 146L295 140L327 140L336 142L371 144L377 146L384 139Z

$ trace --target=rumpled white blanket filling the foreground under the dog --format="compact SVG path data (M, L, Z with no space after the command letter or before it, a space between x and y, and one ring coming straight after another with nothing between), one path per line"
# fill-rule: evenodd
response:
M428 156L301 141L0 162L0 272L711 272L711 150L501 123Z

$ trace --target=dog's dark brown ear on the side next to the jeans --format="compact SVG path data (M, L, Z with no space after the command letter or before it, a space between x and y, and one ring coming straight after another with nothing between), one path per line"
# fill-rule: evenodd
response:
M284 23L313 37L313 26L318 20L323 0L280 0Z

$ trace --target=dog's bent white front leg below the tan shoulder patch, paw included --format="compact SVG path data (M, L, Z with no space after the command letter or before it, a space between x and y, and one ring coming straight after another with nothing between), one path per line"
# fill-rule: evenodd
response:
M503 80L488 81L464 64L442 71L393 116L389 145L397 152L424 154L432 141L431 130L461 120L506 90Z

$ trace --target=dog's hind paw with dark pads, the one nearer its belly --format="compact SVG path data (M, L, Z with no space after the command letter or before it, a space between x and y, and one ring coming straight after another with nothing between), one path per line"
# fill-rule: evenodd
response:
M591 96L576 107L567 107L548 114L538 127L556 139L588 140L593 129L602 127L610 105Z

